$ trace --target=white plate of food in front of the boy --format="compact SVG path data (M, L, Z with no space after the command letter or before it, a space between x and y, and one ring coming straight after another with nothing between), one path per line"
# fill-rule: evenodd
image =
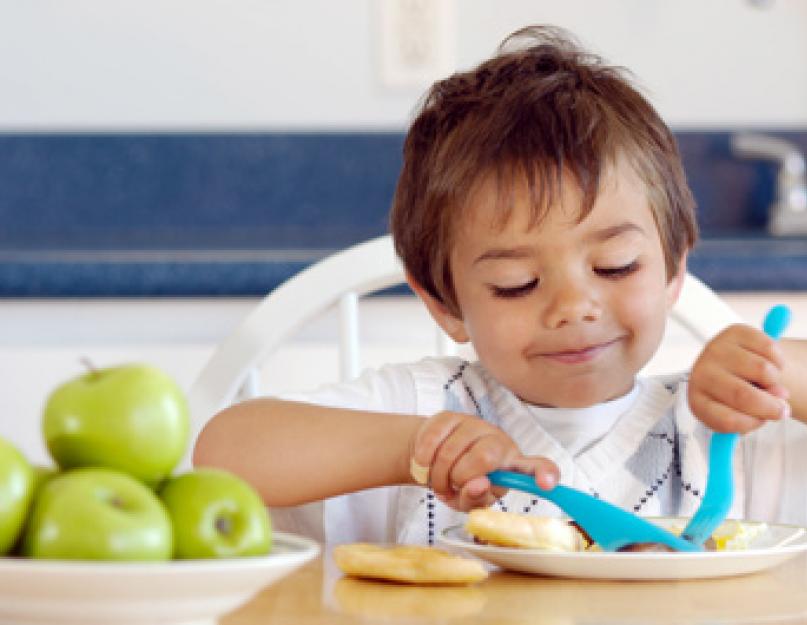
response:
M681 519L653 519L665 526ZM807 550L807 531L793 525L768 525L765 532L742 551L697 553L552 552L480 545L462 527L447 528L440 537L504 569L580 579L693 579L744 575L771 568Z

